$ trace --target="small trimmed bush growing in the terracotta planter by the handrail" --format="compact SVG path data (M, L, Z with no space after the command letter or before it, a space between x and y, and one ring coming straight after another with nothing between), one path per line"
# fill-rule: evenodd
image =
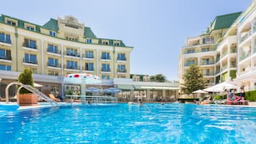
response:
M33 74L32 69L28 69L28 68L23 69L23 72L19 75L18 82L21 82L24 85L34 86L34 80L33 80L32 74ZM26 90L24 88L22 88L19 92L21 94L31 93L29 90Z

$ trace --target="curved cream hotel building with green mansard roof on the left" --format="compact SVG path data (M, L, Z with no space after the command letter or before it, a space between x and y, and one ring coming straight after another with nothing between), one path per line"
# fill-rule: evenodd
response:
M132 50L121 40L96 37L73 16L49 19L40 26L2 14L1 94L4 85L16 81L25 67L33 70L35 82L44 85L43 92L60 91L58 77L70 73L98 75L103 81L130 78Z

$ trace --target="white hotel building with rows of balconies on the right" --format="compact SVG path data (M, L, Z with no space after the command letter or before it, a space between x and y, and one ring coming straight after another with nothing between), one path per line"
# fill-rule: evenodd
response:
M232 82L255 90L255 1L244 12L216 16L207 32L186 39L179 54L179 82L189 65L198 65L208 86Z

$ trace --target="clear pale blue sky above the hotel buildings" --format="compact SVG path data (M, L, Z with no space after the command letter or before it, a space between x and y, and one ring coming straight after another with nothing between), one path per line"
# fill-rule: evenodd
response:
M75 16L99 38L134 47L131 74L178 80L186 37L206 31L215 16L245 11L252 0L44 0L1 1L0 14L43 25Z

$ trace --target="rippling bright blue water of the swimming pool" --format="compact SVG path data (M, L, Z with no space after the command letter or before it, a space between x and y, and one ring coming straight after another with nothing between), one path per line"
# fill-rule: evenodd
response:
M0 143L256 143L256 109L62 106L0 117Z

